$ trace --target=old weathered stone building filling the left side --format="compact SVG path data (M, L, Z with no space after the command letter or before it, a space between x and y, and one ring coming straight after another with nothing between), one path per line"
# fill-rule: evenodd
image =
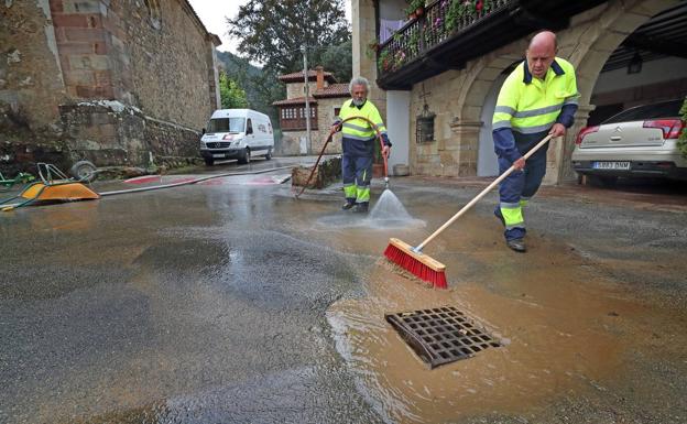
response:
M0 41L3 171L197 156L220 42L186 0L6 0Z

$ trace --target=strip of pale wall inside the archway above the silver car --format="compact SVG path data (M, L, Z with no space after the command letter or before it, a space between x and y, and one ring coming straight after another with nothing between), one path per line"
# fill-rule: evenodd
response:
M625 67L602 73L599 75L592 93L598 95L680 78L687 78L687 59L666 57L644 62L642 72L639 74L628 74L628 68Z

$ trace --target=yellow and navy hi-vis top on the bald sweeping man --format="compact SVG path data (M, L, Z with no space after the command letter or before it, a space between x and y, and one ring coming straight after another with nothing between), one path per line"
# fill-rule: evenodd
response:
M521 156L516 142L536 142L556 122L571 127L578 98L575 68L568 61L556 57L543 80L530 73L527 61L517 65L497 100L492 120L497 154L514 162Z

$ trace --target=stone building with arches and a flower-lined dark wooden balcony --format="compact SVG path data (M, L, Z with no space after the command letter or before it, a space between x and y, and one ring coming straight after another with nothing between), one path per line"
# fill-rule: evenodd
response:
M542 29L557 33L558 55L575 65L581 94L575 126L549 146L545 183L575 177L570 154L588 120L687 94L685 2L483 0L451 14L456 1L427 1L410 19L403 0L352 0L353 75L375 81L370 97L394 142L391 165L407 163L419 175L495 175L495 97Z

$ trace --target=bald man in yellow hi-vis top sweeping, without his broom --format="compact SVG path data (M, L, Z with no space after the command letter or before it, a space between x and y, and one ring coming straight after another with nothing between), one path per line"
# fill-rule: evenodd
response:
M523 207L539 188L546 174L548 143L525 161L523 155L546 135L563 137L577 111L577 81L572 65L556 57L556 34L537 33L525 61L508 76L499 93L492 127L499 174L515 171L499 186L494 215L505 227L505 243L525 252Z

